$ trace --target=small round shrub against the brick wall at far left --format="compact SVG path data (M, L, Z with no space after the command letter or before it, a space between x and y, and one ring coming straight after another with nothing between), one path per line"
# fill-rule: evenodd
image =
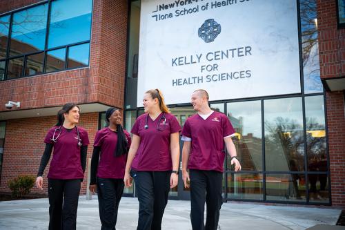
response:
M8 187L12 191L12 196L16 198L22 198L23 195L30 193L30 189L34 186L33 175L19 175L18 178L10 180L8 182Z

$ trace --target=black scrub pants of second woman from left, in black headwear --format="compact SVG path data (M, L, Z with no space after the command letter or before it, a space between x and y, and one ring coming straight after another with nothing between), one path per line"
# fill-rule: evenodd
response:
M115 230L117 210L124 193L124 179L97 178L97 195L101 230Z

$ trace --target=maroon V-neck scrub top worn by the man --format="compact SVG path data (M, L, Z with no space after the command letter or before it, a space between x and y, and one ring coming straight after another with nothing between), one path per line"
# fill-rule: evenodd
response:
M181 135L192 139L188 169L224 171L224 137L235 130L228 117L214 111L207 119L188 117Z

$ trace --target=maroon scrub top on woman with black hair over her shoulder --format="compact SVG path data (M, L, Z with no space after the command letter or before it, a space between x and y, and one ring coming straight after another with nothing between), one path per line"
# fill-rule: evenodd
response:
M124 130L130 146L130 134ZM101 147L101 155L99 159L99 166L97 169L97 177L106 179L124 179L125 168L127 162L127 153L119 157L114 156L117 145L117 132L110 128L102 128L97 131L95 142L93 146Z

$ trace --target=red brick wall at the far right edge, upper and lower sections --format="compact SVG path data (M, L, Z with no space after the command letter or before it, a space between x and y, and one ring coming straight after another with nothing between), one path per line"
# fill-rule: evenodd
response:
M345 75L345 29L337 29L334 0L317 0L319 60L322 79ZM345 207L344 92L326 93L332 204Z

